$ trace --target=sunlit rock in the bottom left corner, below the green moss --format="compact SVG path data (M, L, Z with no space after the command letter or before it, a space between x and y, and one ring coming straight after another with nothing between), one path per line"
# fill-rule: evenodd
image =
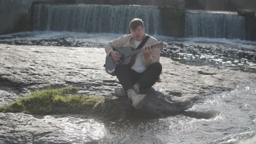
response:
M0 112L0 143L68 143L56 139L62 136L65 127L48 121L24 113Z

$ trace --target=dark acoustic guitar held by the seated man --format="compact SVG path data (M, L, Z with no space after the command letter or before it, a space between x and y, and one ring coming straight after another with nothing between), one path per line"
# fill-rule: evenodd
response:
M150 46L147 46L148 49L161 49L163 47L163 43L156 43ZM130 67L134 64L137 53L141 52L142 49L133 49L131 47L123 47L119 49L113 49L120 53L121 58L120 61L114 61L111 56L106 57L105 61L105 70L110 75L115 75L115 65L117 63L123 63L126 65L130 65Z

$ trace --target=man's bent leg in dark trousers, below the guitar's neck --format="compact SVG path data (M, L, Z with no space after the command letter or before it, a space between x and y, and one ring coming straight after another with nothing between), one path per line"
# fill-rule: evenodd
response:
M141 76L141 79L137 81L136 84L139 88L149 88L152 87L158 80L158 77L162 71L162 65L159 62L149 65L146 71Z

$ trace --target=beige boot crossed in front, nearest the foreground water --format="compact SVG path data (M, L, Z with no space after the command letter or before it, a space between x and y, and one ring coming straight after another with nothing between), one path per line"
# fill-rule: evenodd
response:
M144 104L146 94L137 94L133 89L129 89L127 94L128 97L132 100L132 106L135 109L140 110Z

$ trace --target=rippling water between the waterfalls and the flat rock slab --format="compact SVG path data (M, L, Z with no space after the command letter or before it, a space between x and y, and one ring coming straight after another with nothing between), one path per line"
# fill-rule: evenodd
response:
M57 32L26 32L1 35L0 43L8 45L40 45L65 47L97 47L120 35ZM187 65L209 65L219 69L242 70L256 73L256 43L232 40L185 40L179 38L156 37L164 42L162 57Z

